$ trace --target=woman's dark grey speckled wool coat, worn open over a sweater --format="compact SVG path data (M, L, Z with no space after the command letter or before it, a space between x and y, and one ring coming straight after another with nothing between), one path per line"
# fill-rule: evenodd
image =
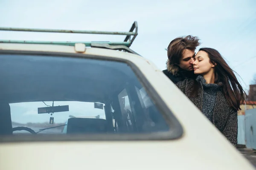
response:
M204 95L204 84L205 79L201 76L198 76L196 81L199 83L198 96L190 96L192 87L194 85L193 79L185 79L181 82L178 82L176 85L180 90L199 108L200 111L204 112L205 116L217 127L219 131L236 147L237 144L237 133L238 133L238 124L237 124L237 111L233 110L228 103L223 93L223 88L219 88L216 91L216 96L214 99L214 106L209 109L209 105L206 106L203 98ZM209 100L210 101L210 100ZM205 103L205 105L203 105ZM212 101L210 101L212 103ZM208 107L208 112L207 108ZM211 114L212 110L212 114Z

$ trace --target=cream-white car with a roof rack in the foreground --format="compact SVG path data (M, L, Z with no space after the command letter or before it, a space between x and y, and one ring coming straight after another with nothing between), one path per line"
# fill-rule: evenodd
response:
M129 32L0 30L126 35L124 42L0 40L0 170L254 169L129 48L136 22Z

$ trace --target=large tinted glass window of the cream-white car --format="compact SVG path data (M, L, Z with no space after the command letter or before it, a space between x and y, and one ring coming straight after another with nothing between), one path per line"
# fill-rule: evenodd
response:
M0 135L170 130L124 62L1 54L0 78Z

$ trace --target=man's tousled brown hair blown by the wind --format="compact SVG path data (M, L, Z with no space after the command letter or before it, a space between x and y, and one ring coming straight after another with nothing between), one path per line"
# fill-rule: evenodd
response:
M195 48L200 45L198 41L198 37L188 35L186 37L177 37L170 42L167 50L167 68L169 68L168 70L170 71L170 68L173 67L171 71L172 74L177 74L178 67L176 65L180 64L184 50L195 51Z

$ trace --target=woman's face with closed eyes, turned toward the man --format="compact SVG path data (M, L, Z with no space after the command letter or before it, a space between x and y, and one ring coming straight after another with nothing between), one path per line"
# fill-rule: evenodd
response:
M198 51L193 62L194 74L208 74L215 65L210 62L208 54L204 51Z

